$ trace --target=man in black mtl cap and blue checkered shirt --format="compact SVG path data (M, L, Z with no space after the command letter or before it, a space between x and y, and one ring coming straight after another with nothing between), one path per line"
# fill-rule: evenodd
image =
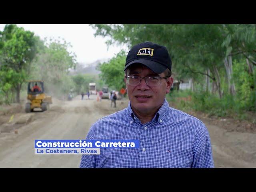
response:
M82 155L81 168L213 168L210 136L197 118L169 107L172 62L164 46L134 46L125 64L130 100L94 123L87 140L140 140L136 149L101 148Z

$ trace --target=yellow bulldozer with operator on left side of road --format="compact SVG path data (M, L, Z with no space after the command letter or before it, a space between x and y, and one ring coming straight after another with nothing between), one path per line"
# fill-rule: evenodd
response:
M52 104L52 97L44 93L43 81L29 81L28 82L28 102L25 106L25 112L33 112L34 108L41 108L46 111L49 104Z

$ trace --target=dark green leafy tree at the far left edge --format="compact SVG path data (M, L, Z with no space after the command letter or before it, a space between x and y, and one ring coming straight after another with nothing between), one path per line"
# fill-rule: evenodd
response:
M0 70L11 75L10 78L5 78L10 80L5 84L8 83L15 89L16 102L20 102L20 89L36 55L37 41L33 32L14 24L6 25L0 33Z

